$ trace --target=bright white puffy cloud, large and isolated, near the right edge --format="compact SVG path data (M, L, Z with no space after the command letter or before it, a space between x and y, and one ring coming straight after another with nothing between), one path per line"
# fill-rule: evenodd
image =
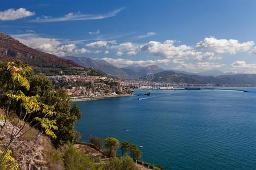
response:
M206 37L203 41L196 44L197 48L213 50L217 53L236 54L238 52L247 52L254 45L253 41L240 43L238 40L216 39L215 37Z

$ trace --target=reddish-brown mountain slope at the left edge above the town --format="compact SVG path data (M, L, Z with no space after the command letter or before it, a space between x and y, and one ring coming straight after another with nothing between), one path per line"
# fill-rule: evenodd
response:
M15 59L35 67L80 67L74 61L29 48L13 37L0 32L0 61Z

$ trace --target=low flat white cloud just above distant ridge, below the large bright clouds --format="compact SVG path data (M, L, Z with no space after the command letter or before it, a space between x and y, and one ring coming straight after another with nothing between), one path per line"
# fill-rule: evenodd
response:
M174 69L177 70L210 70L210 69L217 69L225 64L222 63L214 63L214 62L198 62L196 64L193 63L180 63L179 66L176 66Z

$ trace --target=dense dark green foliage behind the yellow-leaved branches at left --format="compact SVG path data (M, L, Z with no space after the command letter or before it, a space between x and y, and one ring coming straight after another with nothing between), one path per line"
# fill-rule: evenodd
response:
M12 63L14 70L19 70L23 67L22 63L15 62ZM19 95L26 96L26 100L37 101L40 104L47 104L49 106L53 106L54 114L49 112L52 116L44 117L44 113L46 111L51 111L49 108L44 108L36 110L28 116L27 121L31 122L31 125L34 126L38 124L38 121L43 122L44 124L40 124L38 127L39 130L44 128L51 128L51 131L45 130L46 134L52 135L52 142L57 146L61 146L67 142L75 142L77 132L75 131L75 123L81 117L81 112L79 111L77 105L71 109L71 101L69 101L69 96L67 92L58 88L55 89L52 85L51 80L49 80L44 75L34 75L33 71L30 69L28 72L21 74L21 76L17 76L16 79L20 79L23 86L20 86L20 83L13 83L11 72L8 71L7 63L3 63L0 66L0 107L8 107L9 103L7 101L8 98L6 93L11 94L13 87L20 92ZM26 81L27 79L30 88L26 89ZM40 97L39 97L40 96ZM10 96L9 96L10 97ZM15 96L13 96L15 97ZM20 105L22 100L13 100L10 105L10 112L14 112L17 115L20 111L23 111L23 107ZM40 107L46 107L46 105L40 105ZM36 118L38 117L38 118ZM46 119L47 118L47 119ZM49 121L56 121L58 129L54 126L54 124L49 124ZM53 133L55 135L53 135Z

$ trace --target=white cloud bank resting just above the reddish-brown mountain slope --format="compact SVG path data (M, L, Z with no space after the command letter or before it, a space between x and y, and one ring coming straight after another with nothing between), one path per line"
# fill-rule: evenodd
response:
M78 48L76 44L63 44L59 39L40 37L34 33L13 35L13 37L31 48L60 57L68 54L95 53L85 48Z

